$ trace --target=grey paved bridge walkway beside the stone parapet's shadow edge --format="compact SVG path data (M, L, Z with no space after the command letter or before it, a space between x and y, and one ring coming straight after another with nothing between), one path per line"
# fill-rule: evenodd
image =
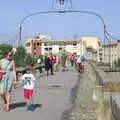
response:
M36 115L34 120L62 120L63 112L69 110L72 106L71 90L77 83L77 77L77 72L66 71L56 72L55 75L44 76L37 79L34 94L34 103L37 108L34 112ZM33 114L31 112L26 112L25 100L22 92L22 87L18 87L14 91L12 109L9 114L16 113L14 115L20 117L23 117L21 113L25 113L26 115L29 113ZM13 120L16 119L15 116L11 117Z

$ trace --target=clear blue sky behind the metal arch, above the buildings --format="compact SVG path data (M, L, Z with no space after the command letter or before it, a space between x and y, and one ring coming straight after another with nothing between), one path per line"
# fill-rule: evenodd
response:
M60 6L56 0L1 0L0 42L18 44L19 26L22 19L40 11L81 10L99 14L105 21L107 31L120 38L120 0L65 0ZM72 7L69 1L72 1ZM38 14L25 19L22 24L22 41L38 34L48 34L54 39L71 39L74 36L95 36L104 39L103 24L90 14Z

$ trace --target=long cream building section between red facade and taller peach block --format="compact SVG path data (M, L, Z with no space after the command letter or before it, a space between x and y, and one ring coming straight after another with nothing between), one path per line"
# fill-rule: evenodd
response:
M81 40L52 40L44 41L42 49L42 54L60 54L62 51L66 51L70 54L82 55L85 54L86 44Z

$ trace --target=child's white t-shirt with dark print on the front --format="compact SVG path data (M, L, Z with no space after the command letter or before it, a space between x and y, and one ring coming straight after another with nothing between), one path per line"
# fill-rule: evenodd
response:
M24 82L24 89L33 90L35 86L35 77L33 74L24 74L21 78Z

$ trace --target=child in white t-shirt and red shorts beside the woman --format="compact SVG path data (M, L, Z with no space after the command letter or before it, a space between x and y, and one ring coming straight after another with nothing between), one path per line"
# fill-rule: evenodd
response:
M35 76L32 74L32 66L26 66L26 73L21 77L24 86L24 98L27 102L27 111L34 111L33 105L33 90L35 85Z

